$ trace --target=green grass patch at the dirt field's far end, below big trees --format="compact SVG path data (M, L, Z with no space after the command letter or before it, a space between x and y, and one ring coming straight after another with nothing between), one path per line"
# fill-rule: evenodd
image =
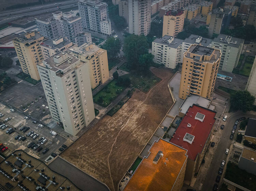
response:
M137 72L126 74L129 77L131 84L134 88L138 88L143 92L148 92L156 83L161 79L155 76L152 72L148 72L146 75L139 74Z

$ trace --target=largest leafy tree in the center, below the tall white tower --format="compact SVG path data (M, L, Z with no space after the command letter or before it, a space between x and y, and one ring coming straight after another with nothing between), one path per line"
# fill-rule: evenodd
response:
M129 67L136 69L139 65L140 55L148 53L149 45L145 36L129 35L124 40L124 53Z

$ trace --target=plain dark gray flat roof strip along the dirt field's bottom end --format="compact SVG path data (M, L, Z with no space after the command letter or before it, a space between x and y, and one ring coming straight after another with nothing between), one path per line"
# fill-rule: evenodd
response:
M51 163L49 163L48 167L53 171L66 176L81 190L109 191L109 188L102 184L100 181L76 168L71 163L67 162L59 156L55 158L55 160L53 160Z

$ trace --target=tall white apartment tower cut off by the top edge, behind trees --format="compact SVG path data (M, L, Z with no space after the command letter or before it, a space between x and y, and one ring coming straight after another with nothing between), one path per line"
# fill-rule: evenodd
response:
M148 35L151 23L151 0L128 0L129 33Z

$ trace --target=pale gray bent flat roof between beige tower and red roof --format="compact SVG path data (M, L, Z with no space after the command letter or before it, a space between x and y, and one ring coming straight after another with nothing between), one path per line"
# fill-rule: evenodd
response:
M184 102L181 104L180 108L180 112L182 112L183 114L185 114L188 110L188 108L190 106L192 106L193 104L196 105L200 105L202 107L207 108L208 105L210 104L211 100L207 99L207 98L203 98L200 97L199 95L194 95L191 94L189 97L187 97Z

